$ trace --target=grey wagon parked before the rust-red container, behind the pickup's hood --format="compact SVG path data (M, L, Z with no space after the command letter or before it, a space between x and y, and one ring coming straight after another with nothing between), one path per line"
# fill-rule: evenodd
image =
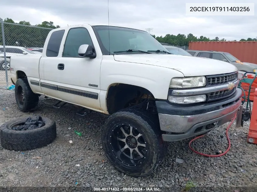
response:
M217 59L233 64L238 68L239 72L257 72L257 64L241 62L239 59L227 52L221 51L201 51L201 50L186 50L195 57L204 57L210 59Z

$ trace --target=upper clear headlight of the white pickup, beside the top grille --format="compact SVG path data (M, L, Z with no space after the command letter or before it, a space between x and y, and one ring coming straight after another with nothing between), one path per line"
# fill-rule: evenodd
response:
M204 87L206 85L205 77L175 77L170 81L170 88L194 88Z

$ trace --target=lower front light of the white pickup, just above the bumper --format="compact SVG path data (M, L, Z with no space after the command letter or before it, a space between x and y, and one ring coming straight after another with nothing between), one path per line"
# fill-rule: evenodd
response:
M168 96L168 100L171 103L179 103L179 104L200 103L200 102L206 101L206 95L196 95L196 96L186 96L186 97Z

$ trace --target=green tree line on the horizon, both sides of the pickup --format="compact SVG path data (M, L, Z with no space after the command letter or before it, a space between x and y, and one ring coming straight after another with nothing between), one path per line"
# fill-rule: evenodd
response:
M51 21L50 22L43 21L41 24L31 25L30 22L27 22L27 21L20 21L16 23L12 19L6 18L4 19L4 22L24 25L24 26L6 25L6 24L4 25L6 45L17 45L16 42L18 42L18 45L23 47L43 47L45 39L50 31L49 29L56 29L60 27L59 25L54 25L54 23ZM49 28L49 29L26 27L26 25ZM157 39L158 42L168 43L170 45L177 45L177 46L188 46L189 41L227 41L224 38L219 39L219 37L215 37L214 39L210 39L209 37L207 38L203 35L200 37L196 37L192 33L189 33L188 35L167 34L164 37L163 36L155 37L155 35L153 34L151 35L155 39ZM237 41L237 40L233 40L233 41ZM257 37L240 39L240 41L257 41ZM2 45L1 32L0 32L0 45Z

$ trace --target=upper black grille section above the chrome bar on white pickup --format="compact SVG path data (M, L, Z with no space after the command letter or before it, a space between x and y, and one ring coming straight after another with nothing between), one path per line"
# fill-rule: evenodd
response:
M228 73L223 75L207 76L209 86L233 82L237 78L238 78L238 72Z

